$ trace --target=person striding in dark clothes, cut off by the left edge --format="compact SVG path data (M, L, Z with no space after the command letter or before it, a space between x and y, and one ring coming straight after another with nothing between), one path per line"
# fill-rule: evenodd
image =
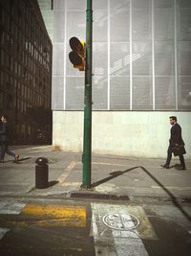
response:
M6 153L13 156L15 162L17 162L19 154L9 150L10 124L8 123L8 116L2 115L1 122L3 124L2 129L0 130L0 163L4 163Z

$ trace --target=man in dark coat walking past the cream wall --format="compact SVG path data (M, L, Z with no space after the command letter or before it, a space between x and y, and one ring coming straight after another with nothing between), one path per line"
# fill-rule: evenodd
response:
M181 128L180 128L180 125L177 123L177 117L170 116L169 118L170 118L170 124L172 125L172 128L170 130L171 135L169 139L169 147L167 151L166 163L164 165L161 165L162 168L166 168L166 169L169 169L169 166L170 166L173 147L181 145L183 147L183 153L185 153L185 149L184 149L185 144L181 137ZM181 164L180 169L186 170L183 154L180 154L179 157L180 157L180 164Z

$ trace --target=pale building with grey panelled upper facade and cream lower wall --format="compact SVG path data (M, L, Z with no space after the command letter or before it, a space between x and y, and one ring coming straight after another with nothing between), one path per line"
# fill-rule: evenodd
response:
M68 55L86 0L52 4L53 145L82 151L84 72ZM189 0L93 0L94 152L163 157L176 115L191 155L190 17Z

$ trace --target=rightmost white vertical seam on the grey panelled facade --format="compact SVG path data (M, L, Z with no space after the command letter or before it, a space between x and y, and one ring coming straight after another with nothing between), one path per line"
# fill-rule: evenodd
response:
M177 0L174 0L174 38L175 38L175 103L178 110L178 71L177 71Z

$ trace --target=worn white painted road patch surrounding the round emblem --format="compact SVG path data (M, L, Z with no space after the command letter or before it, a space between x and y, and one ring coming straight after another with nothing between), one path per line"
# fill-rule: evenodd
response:
M92 235L95 239L97 256L100 254L103 256L148 256L141 238L157 239L157 236L144 210L140 206L92 203L91 207L93 214ZM123 214L133 214L137 218L141 218L141 220L139 220L140 225L138 228L128 231L115 230L106 226L102 221L103 216L116 213L121 216ZM131 220L130 215L128 219Z

